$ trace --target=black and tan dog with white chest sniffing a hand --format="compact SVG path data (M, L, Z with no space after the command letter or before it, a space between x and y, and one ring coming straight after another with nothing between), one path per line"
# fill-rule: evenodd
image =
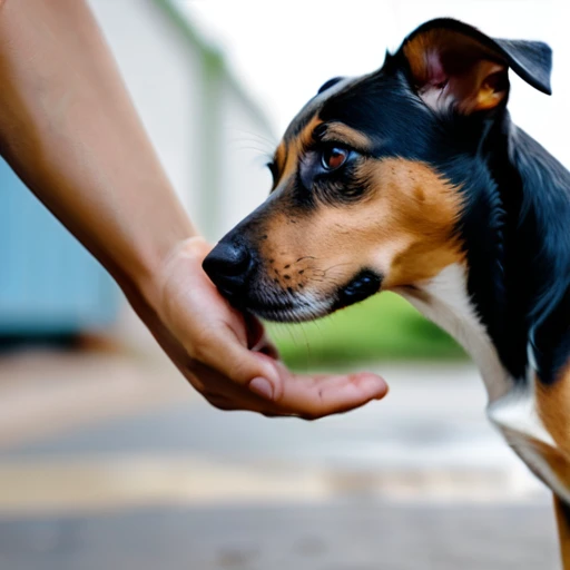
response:
M269 165L268 199L204 267L273 321L402 294L473 356L491 422L553 491L570 569L570 175L510 120L508 70L551 51L433 20L379 71L325 83Z

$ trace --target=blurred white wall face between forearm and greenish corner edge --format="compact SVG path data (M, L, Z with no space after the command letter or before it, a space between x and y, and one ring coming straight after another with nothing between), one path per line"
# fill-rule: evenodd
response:
M200 165L199 52L151 0L89 0L150 139L189 212L196 213Z

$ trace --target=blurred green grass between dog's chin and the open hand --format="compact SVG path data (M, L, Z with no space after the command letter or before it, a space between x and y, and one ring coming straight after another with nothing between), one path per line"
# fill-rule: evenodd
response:
M375 295L313 323L269 324L268 330L287 365L296 370L382 360L465 357L448 334L392 293Z

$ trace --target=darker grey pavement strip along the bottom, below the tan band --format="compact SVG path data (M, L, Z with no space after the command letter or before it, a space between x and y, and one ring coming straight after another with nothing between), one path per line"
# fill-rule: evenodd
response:
M554 570L542 507L151 509L0 522L17 570Z

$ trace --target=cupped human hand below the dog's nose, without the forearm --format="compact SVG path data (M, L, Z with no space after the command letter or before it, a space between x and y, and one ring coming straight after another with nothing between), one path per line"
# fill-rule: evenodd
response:
M157 320L147 321L188 382L220 410L314 420L347 412L387 392L371 373L297 375L278 360L262 323L219 295L202 269L210 246L181 243L159 272Z

